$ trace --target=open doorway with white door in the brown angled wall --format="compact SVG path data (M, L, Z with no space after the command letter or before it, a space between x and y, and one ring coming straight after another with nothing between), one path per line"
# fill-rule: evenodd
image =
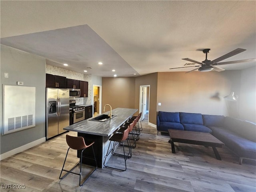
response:
M141 120L147 119L149 121L149 103L150 103L150 85L140 86L140 107ZM145 118L148 116L148 118Z

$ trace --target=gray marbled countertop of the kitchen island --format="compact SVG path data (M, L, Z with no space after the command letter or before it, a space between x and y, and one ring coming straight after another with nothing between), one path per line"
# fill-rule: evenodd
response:
M108 137L122 126L136 111L138 109L116 108L112 110L112 115L116 116L107 122L90 121L92 118L89 118L67 126L64 130ZM106 112L104 114L108 113Z

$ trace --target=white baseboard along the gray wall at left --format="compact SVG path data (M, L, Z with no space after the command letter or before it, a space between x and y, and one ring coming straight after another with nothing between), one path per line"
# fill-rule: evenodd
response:
M31 147L34 147L34 146L36 146L36 145L38 145L38 144L41 144L41 143L43 143L43 142L45 142L45 141L46 141L46 138L43 137L43 138L40 138L40 139L35 140L35 141L33 141L33 142L30 142L30 143L28 143L28 144L26 144L26 145L20 146L20 147L18 147L18 148L16 148L16 149L10 150L10 151L8 151L8 152L6 152L6 153L1 154L1 155L0 155L0 160L3 160L3 159L5 159L5 158L8 158L8 157L10 157L10 156L12 156L12 155L15 155L15 154L17 154L17 153L19 153L19 152L22 152L22 151L24 151L24 150L26 150L26 149L29 149L29 148L31 148Z

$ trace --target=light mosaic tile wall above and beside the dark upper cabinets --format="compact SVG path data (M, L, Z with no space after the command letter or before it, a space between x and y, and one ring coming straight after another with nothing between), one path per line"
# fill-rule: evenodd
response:
M45 72L48 74L64 76L69 79L88 81L88 97L76 98L76 105L92 104L92 74L82 74L47 64Z

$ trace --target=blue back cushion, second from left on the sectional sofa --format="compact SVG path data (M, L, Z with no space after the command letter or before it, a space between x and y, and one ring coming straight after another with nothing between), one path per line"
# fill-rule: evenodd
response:
M203 125L202 114L180 112L180 123Z

